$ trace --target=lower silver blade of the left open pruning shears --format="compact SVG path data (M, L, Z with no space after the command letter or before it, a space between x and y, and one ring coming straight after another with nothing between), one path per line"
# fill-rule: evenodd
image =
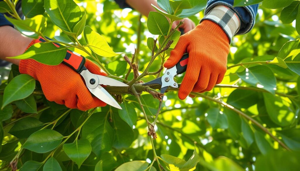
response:
M110 95L103 87L98 85L96 88L91 89L88 87L88 90L95 95L98 99L102 100L103 102L111 105L115 108L122 109L119 103Z

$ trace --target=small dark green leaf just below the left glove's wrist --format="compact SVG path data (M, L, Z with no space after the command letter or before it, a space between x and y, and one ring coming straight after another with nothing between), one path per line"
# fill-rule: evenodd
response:
M21 99L15 102L16 106L21 109L21 111L25 113L35 113L37 114L37 104L35 102L35 98L33 95L26 97L25 99Z

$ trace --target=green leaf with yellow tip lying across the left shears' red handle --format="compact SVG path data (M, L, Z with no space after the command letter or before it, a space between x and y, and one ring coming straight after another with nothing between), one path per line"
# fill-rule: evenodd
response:
M67 54L66 46L56 47L53 43L35 43L30 46L29 49L22 55L16 57L10 57L12 59L34 59L40 63L46 65L58 65L63 60Z

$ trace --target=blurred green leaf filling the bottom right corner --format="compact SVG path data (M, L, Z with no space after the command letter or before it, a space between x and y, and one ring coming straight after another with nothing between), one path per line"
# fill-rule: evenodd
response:
M276 150L261 155L256 160L256 171L297 171L300 167L300 153Z

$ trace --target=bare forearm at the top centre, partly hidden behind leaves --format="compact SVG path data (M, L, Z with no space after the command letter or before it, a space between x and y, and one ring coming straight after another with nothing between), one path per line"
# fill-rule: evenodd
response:
M141 0L126 0L126 3L147 17L150 11L155 11L151 4L158 7L156 0L146 0L143 3L141 3Z

